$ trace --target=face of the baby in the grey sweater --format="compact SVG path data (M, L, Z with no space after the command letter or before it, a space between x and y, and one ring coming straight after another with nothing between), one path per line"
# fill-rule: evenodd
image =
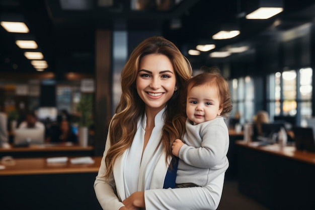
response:
M218 90L207 85L188 87L187 117L196 124L213 120L221 114Z

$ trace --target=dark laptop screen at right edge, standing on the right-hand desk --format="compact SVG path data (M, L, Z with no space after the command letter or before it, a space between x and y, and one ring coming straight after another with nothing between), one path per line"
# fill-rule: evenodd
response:
M315 152L315 139L313 128L311 127L293 127L294 143L296 150Z

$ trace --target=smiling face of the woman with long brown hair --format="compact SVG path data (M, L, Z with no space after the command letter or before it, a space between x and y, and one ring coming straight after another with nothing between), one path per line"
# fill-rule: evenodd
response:
M137 93L145 110L161 111L173 96L176 75L171 60L163 54L142 57L136 79Z

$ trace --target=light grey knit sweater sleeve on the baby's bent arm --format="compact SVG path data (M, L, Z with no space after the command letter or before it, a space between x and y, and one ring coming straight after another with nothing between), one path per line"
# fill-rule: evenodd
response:
M226 157L226 144L229 138L226 129L218 124L208 125L203 129L201 136L201 147L183 145L179 158L186 164L198 168L222 165Z

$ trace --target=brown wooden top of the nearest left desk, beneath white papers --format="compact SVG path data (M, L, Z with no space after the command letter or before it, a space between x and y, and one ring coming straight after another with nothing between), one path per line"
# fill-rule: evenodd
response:
M64 174L64 173L97 173L102 157L93 157L94 164L71 164L71 157L66 163L47 163L46 158L27 158L2 161L0 165L6 168L0 170L4 175L35 175L35 174Z

